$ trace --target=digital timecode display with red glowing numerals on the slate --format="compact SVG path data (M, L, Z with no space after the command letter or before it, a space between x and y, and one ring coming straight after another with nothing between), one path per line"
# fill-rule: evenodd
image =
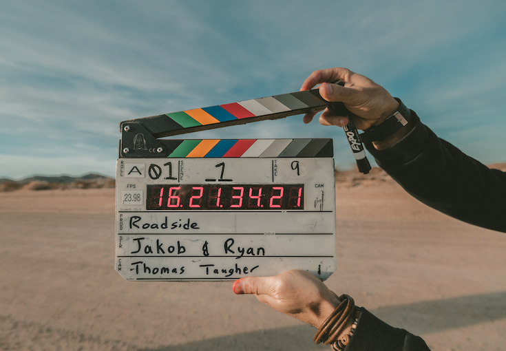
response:
M148 184L148 210L303 210L304 184Z

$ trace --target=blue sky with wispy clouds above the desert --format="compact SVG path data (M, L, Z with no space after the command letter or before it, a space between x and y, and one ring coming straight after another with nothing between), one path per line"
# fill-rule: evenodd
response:
M336 66L506 162L505 34L504 0L2 1L0 178L114 177L121 121L297 92ZM179 138L333 138L337 168L355 163L340 128L302 116Z

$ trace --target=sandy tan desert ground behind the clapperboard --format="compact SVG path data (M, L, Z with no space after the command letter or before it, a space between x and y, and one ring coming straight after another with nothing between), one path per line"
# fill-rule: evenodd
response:
M506 235L389 181L337 187L326 282L432 350L506 349ZM114 189L0 193L1 350L330 350L232 283L129 282L114 270Z

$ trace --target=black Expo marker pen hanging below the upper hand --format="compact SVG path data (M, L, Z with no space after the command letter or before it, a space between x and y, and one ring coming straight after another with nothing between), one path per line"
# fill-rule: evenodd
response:
M342 80L339 80L334 84L344 87L344 81ZM351 151L353 151L353 156L357 161L359 172L363 174L369 173L371 167L366 156L366 150L363 148L362 140L359 136L359 131L355 125L355 115L352 114L352 112L347 109L346 106L344 106L344 103L330 103L329 108L335 114L339 116L346 116L348 118L348 124L343 127L344 133L346 134L346 139L348 139Z

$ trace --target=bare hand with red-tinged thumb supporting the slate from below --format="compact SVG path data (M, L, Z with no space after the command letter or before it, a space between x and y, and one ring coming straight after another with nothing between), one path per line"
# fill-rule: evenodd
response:
M317 277L288 270L274 277L245 277L233 284L235 294L254 294L258 301L319 328L339 306L339 299Z

